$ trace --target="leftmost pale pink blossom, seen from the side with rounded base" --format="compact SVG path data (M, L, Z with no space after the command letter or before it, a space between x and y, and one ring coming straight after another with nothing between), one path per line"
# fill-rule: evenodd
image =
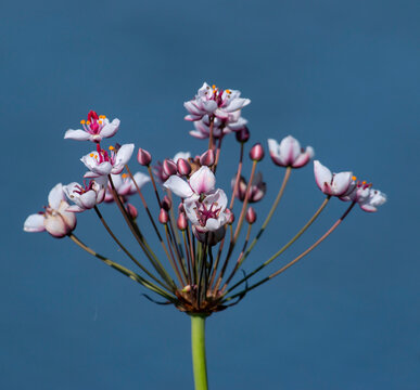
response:
M47 231L56 238L62 238L76 227L76 216L68 212L68 203L65 202L63 185L56 184L48 195L48 206L43 212L30 214L25 223L25 232Z

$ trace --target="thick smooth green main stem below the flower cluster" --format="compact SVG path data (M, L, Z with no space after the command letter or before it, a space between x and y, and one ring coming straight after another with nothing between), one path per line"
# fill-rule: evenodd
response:
M205 363L205 316L191 314L191 349L195 390L207 390Z

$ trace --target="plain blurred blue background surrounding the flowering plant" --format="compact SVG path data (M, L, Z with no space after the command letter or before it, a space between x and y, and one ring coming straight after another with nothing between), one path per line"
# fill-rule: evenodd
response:
M419 389L419 12L404 0L3 2L0 387L192 388L184 314L149 302L68 239L22 226L56 182L84 173L78 158L91 145L63 134L89 109L120 118L116 139L155 159L203 152L182 103L206 80L252 99L252 142L291 133L389 195L378 213L355 209L310 257L208 318L211 388ZM225 146L222 187L238 158L232 136ZM260 167L269 191L259 221L282 173L269 158ZM321 202L311 167L295 171L245 269ZM270 270L344 207L331 202ZM120 216L102 209L131 242ZM128 264L93 213L78 222L80 238Z

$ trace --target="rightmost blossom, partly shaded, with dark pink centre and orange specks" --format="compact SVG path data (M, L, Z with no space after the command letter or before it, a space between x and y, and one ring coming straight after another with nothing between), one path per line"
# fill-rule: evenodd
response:
M386 202L386 195L379 190L372 188L372 184L352 178L348 190L340 196L344 202L356 202L364 211L374 212L379 206Z

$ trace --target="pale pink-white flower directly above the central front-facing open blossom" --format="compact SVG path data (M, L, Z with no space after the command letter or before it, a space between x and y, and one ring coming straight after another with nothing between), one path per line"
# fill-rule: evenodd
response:
M215 184L216 178L212 170L208 167L201 167L191 174L188 182L173 174L163 186L183 199L198 200L201 196L213 192Z

